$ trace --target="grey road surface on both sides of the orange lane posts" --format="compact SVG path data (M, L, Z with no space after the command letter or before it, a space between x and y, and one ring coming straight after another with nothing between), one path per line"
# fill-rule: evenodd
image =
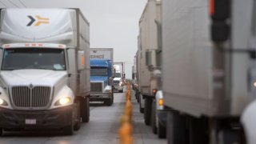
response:
M143 122L143 115L138 111L138 103L133 102L133 138L134 144L164 144L166 139L158 139ZM114 105L104 106L94 103L90 106L90 122L82 123L81 129L72 136L65 136L58 131L11 131L4 132L1 144L118 144L119 118L125 105L125 92L114 94Z

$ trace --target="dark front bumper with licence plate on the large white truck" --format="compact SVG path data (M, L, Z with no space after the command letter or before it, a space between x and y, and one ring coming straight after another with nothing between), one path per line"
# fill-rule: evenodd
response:
M74 106L54 110L8 110L0 108L0 127L4 129L60 129L74 118ZM28 124L26 121L34 121Z

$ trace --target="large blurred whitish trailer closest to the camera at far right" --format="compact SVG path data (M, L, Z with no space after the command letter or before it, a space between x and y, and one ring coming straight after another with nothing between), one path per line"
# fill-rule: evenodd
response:
M168 143L244 143L239 119L256 95L255 4L163 0Z

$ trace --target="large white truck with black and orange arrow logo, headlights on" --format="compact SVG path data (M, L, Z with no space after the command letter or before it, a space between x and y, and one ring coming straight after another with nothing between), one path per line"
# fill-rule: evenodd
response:
M89 22L78 9L1 9L0 134L90 119Z

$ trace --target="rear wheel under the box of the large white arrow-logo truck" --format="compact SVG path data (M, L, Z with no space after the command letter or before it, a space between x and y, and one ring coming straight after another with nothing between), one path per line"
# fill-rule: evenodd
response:
M81 119L82 122L89 122L90 121L90 102L89 97L81 98L80 99L81 106Z

